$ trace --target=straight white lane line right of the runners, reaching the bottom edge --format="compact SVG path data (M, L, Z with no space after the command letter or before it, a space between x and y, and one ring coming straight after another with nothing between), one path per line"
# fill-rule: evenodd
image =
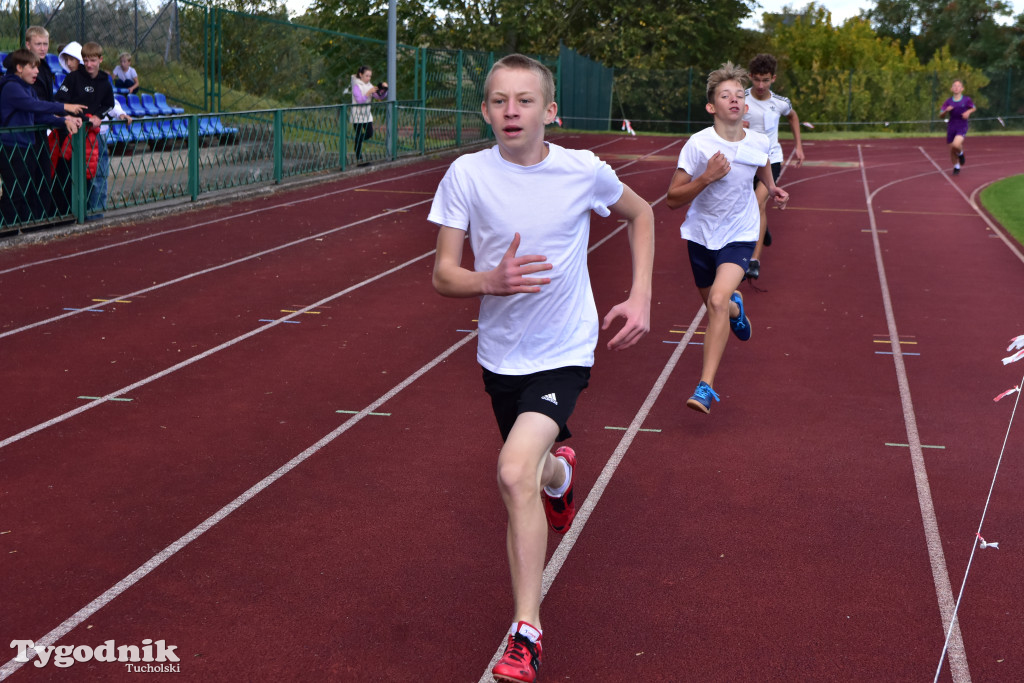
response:
M882 303L886 311L886 325L889 329L889 339L892 344L893 365L896 369L896 381L899 384L900 403L903 409L903 424L906 427L907 442L910 444L910 462L913 466L913 479L918 488L918 504L921 506L921 517L925 526L925 542L928 545L928 558L932 565L932 580L935 582L935 594L939 601L939 611L942 614L943 629L952 629L949 643L949 669L953 683L970 683L971 672L968 669L967 652L964 649L964 639L961 636L959 625L955 623L952 587L949 584L949 570L946 568L945 554L942 552L942 538L939 535L939 522L935 516L935 504L932 501L932 488L928 483L928 470L925 467L925 455L921 447L921 436L918 433L918 419L910 400L910 382L903 365L903 352L899 344L899 332L896 330L896 315L893 312L892 297L889 293L889 281L886 278L886 267L882 259L882 244L879 241L878 223L874 219L874 196L887 185L873 193L867 184L867 171L864 168L863 150L857 145L857 156L860 158L860 178L864 186L864 198L867 202L867 217L871 225L871 244L874 247L874 263L879 271L879 285L882 289ZM893 184L893 183L889 183Z

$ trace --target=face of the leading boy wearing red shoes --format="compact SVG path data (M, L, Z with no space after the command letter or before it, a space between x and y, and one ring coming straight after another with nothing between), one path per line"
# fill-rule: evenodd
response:
M543 153L544 127L555 120L558 105L544 101L540 74L505 68L492 74L490 91L480 111L499 147L508 153L503 156L512 161Z

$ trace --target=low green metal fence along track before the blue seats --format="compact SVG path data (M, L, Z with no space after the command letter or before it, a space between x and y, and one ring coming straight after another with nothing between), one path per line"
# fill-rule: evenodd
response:
M4 197L0 198L4 207L0 234L54 221L81 222L103 211L168 200L196 201L218 190L346 170L356 163L350 109L350 104L334 104L232 112L216 117L216 127L211 126L213 117L205 115L147 119L151 129L183 127L187 136L104 144L110 153L105 173L97 173L92 180L86 178L84 132L72 138L68 175L49 177L39 171L40 155L48 156L45 146L3 145L0 167L5 186ZM375 132L362 143L366 163L454 150L484 139L487 130L479 112L428 109L417 101L374 102L371 111ZM180 126L175 126L176 122ZM136 121L132 128L138 131L139 125ZM126 123L112 123L106 139L120 138L117 129L127 127ZM5 132L18 130L37 129L11 128ZM8 184L8 175L18 179ZM101 202L97 199L100 184L105 195ZM12 214L13 209L8 207L23 196L58 194L68 198L63 208L56 208L50 201L45 211Z

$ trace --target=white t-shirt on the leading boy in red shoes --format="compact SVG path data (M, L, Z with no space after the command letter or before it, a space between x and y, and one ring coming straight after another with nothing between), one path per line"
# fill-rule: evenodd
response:
M592 152L547 143L540 164L519 166L498 146L457 159L434 195L428 220L469 230L473 268L494 269L516 232L517 255L554 267L539 293L480 297L476 357L502 375L594 365L599 319L587 269L590 212L607 216L623 194L615 172Z

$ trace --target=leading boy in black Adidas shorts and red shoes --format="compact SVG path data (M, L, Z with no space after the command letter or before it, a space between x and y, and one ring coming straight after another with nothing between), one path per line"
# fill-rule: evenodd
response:
M564 533L575 515L575 454L551 451L569 436L598 337L587 270L590 212L629 221L633 286L600 324L606 330L626 318L611 349L632 346L650 329L654 216L593 153L544 141L557 105L554 79L540 62L512 54L495 63L480 109L498 144L457 159L437 187L428 217L440 225L433 285L444 296L480 297L477 360L504 440L498 487L515 610L492 673L531 682L542 657L547 527ZM467 230L471 269L462 265Z

